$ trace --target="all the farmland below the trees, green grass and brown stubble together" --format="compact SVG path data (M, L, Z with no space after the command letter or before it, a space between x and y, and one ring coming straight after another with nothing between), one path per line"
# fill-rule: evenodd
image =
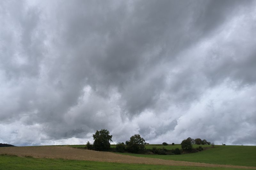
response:
M2 147L0 169L230 169L249 166L256 168L256 146L216 146L202 152L182 155L118 154L72 147ZM15 165L11 164L14 161Z

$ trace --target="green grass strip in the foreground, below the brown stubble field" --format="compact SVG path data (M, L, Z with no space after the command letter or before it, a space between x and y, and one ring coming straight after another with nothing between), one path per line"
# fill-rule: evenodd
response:
M205 169L206 167L193 166L165 166L146 164L122 164L95 161L79 161L46 158L25 158L17 156L0 155L0 170L6 169ZM210 170L231 169L220 167L207 167Z

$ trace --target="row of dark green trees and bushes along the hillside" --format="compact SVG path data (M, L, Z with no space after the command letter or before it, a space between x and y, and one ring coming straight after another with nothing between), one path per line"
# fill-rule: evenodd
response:
M188 137L187 139L183 140L181 142L181 149L176 148L172 150L168 150L163 148L156 148L153 147L152 149L145 149L145 145L148 144L143 139L143 137L140 137L140 134L135 134L130 137L130 140L127 140L122 143L117 143L116 148L111 148L110 142L112 142L112 135L109 134L109 131L107 129L101 129L100 131L96 131L95 134L92 135L93 137L93 144L91 144L89 141L86 143L86 148L89 150L95 150L95 151L113 151L113 152L131 152L131 153L146 153L152 152L154 154L158 155L177 155L181 153L193 153L202 151L203 147L199 146L197 148L193 148L193 144L208 144L210 145L211 142L208 142L207 140L200 138L192 139L191 137ZM162 143L164 146L168 145L166 142ZM174 145L174 143L172 143ZM214 144L213 144L214 145ZM212 145L212 147L213 147Z

